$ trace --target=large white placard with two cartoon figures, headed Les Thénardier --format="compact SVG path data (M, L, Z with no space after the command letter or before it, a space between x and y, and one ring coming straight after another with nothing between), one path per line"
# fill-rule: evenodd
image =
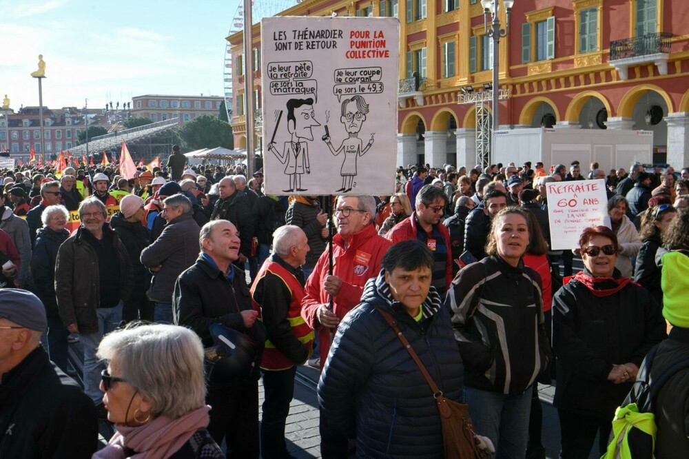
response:
M400 22L261 21L267 194L392 194Z

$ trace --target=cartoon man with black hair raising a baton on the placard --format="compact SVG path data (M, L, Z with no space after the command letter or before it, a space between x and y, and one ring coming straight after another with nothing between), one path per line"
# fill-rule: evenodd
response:
M305 172L311 174L309 164L309 144L307 140L313 140L313 126L320 126L316 121L316 113L313 111L313 99L289 99L287 101L287 131L291 139L285 142L282 154L275 147L275 134L280 125L282 110L278 112L278 120L275 124L273 136L268 145L268 150L277 156L280 163L285 164L285 175L289 176L289 189L284 192L307 191L301 187L301 176Z

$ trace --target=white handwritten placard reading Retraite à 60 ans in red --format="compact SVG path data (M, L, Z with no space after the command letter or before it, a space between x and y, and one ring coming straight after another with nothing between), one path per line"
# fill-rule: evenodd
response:
M610 227L605 181L586 180L546 183L551 249L571 250L579 246L584 228Z

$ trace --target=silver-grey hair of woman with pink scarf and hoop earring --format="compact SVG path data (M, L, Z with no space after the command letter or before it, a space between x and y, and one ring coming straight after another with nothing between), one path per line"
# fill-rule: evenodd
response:
M177 325L141 325L116 330L101 340L96 354L114 362L139 393L151 400L151 416L176 419L205 405L203 345Z

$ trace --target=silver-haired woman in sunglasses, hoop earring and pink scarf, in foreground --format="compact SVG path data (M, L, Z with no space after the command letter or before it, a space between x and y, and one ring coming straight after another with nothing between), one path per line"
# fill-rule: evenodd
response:
M141 325L98 347L103 405L116 433L96 459L224 458L206 430L203 346L189 329Z

